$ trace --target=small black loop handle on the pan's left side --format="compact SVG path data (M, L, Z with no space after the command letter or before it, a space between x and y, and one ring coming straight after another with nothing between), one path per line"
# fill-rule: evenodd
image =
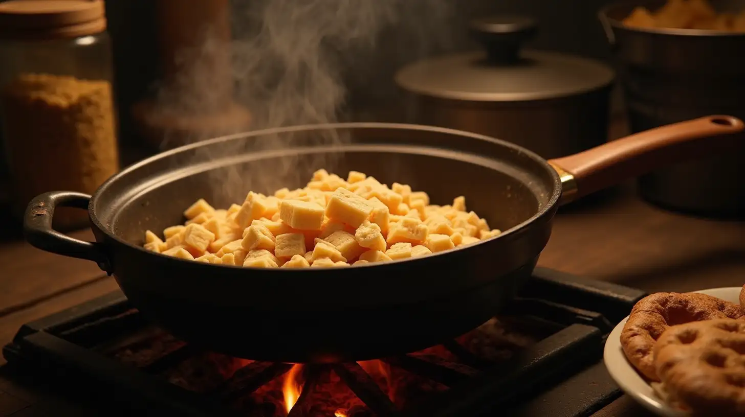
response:
M94 261L102 270L111 273L110 263L101 243L80 241L51 228L54 208L59 206L87 210L90 199L91 196L74 191L51 191L39 194L26 207L23 234L31 246L57 253L57 255Z

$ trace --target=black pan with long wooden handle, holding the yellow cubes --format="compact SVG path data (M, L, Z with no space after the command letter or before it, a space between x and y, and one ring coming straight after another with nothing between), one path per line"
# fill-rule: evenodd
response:
M25 236L39 249L95 261L136 308L189 343L254 360L368 360L433 346L498 313L530 277L560 203L663 164L723 152L738 141L729 134L743 129L737 118L708 116L548 162L506 141L438 127L256 131L153 156L92 197L39 195L25 213ZM318 168L408 183L433 203L464 195L469 210L504 232L407 261L304 270L203 264L141 247L146 229L182 223L198 198L226 207L248 190L300 187ZM96 241L51 229L57 206L87 208Z

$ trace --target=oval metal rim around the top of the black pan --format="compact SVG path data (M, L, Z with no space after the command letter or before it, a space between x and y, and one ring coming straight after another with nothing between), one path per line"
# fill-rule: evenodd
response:
M524 147L521 147L517 144L513 144L508 141L504 141L502 139L496 139L492 138L490 136L480 135L478 133L471 133L466 132L464 130L455 130L455 129L449 129L446 127L435 127L435 126L427 126L422 124L400 124L400 123L383 123L383 122L345 122L345 123L329 123L329 124L302 124L302 125L296 125L296 126L289 126L289 127L275 127L270 129L263 129L263 130L250 130L247 132L241 132L241 133L234 133L231 135L225 135L225 136L218 136L213 139L206 139L205 141L199 141L193 144L185 144L180 147L175 147L171 150L166 150L161 153L156 153L156 155L150 156L146 159L143 159L140 162L136 162L132 165L129 165L127 168L124 168L123 170L119 171L117 174L111 176L109 179L107 179L101 186L95 191L95 193L92 195L89 206L88 206L88 212L89 217L91 219L92 224L95 226L96 229L100 230L101 232L104 232L108 238L112 239L118 244L127 246L127 248L135 249L139 252L146 252L148 255L157 255L159 258L168 259L169 261L180 261L180 262L189 262L191 264L194 264L194 261L186 260L186 259L180 259L180 258L174 258L172 256L166 256L162 255L161 253L151 252L147 249L137 246L133 243L129 243L127 241L124 241L124 239L120 238L118 235L116 235L112 228L110 226L104 226L103 223L101 223L101 220L98 219L98 215L94 211L94 206L96 200L98 200L98 196L101 194L101 192L105 191L107 189L107 186L110 185L113 182L116 182L118 179L120 179L123 176L126 176L130 172L136 171L139 168L142 168L151 162L157 161L159 159L163 159L167 156L176 155L177 153L183 153L188 150L196 149L198 147L203 147L209 144L218 144L221 142L226 141L233 141L233 140L240 140L240 139L246 139L250 137L256 137L256 136L264 136L264 135L271 135L271 134L277 134L277 133L292 133L292 132L301 132L301 131L311 131L311 130L360 130L360 129L381 129L381 130L410 130L410 131L419 131L419 132L431 132L431 133L444 133L449 134L453 136L465 136L469 137L471 139L477 139L481 141L487 141L489 143L506 147L510 150L516 151L517 153L521 153L524 156L527 156L529 159L533 160L533 162L536 162L537 165L541 166L545 172L551 176L551 179L553 179L553 185L554 185L554 191L551 194L551 197L548 198L548 201L545 203L545 205L542 208L539 208L533 216L527 218L526 220L522 221L522 223L516 224L515 226L511 227L510 229L502 231L499 235L494 236L492 238L488 238L484 241L478 241L476 243L472 243L468 246L460 246L455 247L453 249L448 249L442 252L436 252L431 255L417 257L417 258L406 258L406 259L397 259L393 261L387 261L387 262L378 262L373 264L363 264L358 265L355 268L369 268L369 267L384 267L386 265L396 265L402 262L416 262L416 261L424 261L425 259L431 258L433 256L440 256L440 255L448 255L451 252L459 251L462 249L472 249L476 246L481 246L481 244L496 241L498 239L501 240L507 240L508 238L512 237L516 234L516 232L519 232L522 229L527 228L527 226L530 226L532 223L537 223L539 220L541 220L543 217L547 216L551 213L552 210L557 206L559 203L559 198L562 194L562 182L559 177L559 174L554 170L554 168L551 168L551 165L548 164L548 162L543 159L538 154L534 153L531 150L527 150ZM223 264L206 264L197 262L197 264L201 264L202 267L221 267L221 268L235 268L240 270L248 270L248 271L262 271L263 273L285 273L285 274L302 274L305 272L306 274L309 272L306 268L262 268L262 267L243 267L238 265L223 265ZM346 268L340 268L340 267L315 267L313 270L317 271L325 271L328 273L330 270L337 270L337 271L345 271Z

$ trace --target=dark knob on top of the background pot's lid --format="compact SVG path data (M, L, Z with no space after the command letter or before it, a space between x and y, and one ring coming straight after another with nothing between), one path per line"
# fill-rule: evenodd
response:
M519 60L522 42L530 40L538 32L534 19L514 15L474 19L469 28L493 63L514 63Z

